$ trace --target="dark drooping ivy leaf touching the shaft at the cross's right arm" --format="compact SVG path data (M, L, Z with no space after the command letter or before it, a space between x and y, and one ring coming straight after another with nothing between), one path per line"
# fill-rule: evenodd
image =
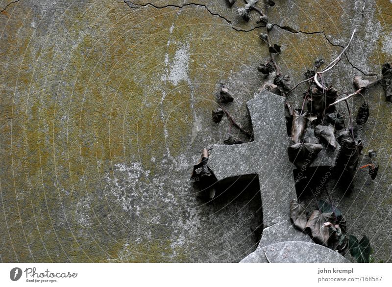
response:
M287 149L290 162L297 168L307 167L322 150L322 145L311 143L296 143Z

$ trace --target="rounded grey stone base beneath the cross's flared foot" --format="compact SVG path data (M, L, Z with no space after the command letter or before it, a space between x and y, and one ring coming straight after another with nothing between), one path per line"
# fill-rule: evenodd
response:
M243 263L349 263L338 252L322 245L286 241L262 247L258 255L244 259Z

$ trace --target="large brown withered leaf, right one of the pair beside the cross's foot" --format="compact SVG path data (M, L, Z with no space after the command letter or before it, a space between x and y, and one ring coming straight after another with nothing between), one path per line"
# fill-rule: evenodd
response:
M314 210L306 223L305 229L308 229L316 242L327 246L329 239L329 230L324 223L336 223L335 215L332 212L321 213L319 210Z

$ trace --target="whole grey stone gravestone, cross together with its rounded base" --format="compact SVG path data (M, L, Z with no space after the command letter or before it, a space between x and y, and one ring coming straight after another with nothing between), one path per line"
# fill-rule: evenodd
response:
M254 141L239 145L214 145L208 161L219 183L255 177L259 180L263 235L256 251L242 262L346 261L336 252L312 243L308 235L296 230L289 222L289 203L297 196L294 165L287 154L290 138L285 121L285 98L263 90L246 106ZM306 248L314 253L306 252ZM267 259L266 255L271 259Z

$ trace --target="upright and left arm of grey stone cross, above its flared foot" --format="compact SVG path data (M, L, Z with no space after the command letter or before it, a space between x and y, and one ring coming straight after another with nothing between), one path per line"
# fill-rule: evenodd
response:
M218 181L258 177L264 227L288 220L289 202L296 199L292 168L287 156L289 137L285 98L262 90L246 103L254 141L214 145L208 165Z

